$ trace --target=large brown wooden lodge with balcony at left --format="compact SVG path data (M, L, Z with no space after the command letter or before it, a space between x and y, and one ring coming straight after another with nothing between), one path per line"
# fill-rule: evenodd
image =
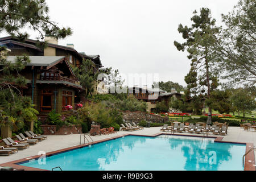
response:
M0 46L10 49L7 53L7 61L15 62L16 56L26 54L31 63L20 72L27 78L27 89L23 89L24 96L32 98L33 104L39 111L39 119L42 121L51 110L67 116L71 111L65 106L83 101L84 88L72 71L73 67L80 67L83 59L89 59L93 63L94 73L103 67L99 55L86 55L77 52L73 44L67 46L58 45L57 40L46 38L48 47L40 49L36 46L36 40L26 39L23 42L12 38L0 38ZM0 65L1 66L1 65ZM95 85L97 90L97 84Z

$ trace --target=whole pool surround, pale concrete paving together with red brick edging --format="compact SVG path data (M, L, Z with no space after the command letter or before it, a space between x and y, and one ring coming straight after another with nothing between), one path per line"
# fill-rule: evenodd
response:
M160 132L162 127L151 127L144 128L143 130L138 131L118 131L114 134L101 135L92 137L94 143L104 142L105 140L119 138L125 135L144 135L154 137L160 134L165 134ZM175 133L175 135L189 135L193 137L200 137L203 134L191 134L191 133ZM233 143L246 143L246 151L250 148L255 148L256 146L256 131L244 131L240 127L229 127L228 135L212 135L209 134L208 137L214 137L215 142L233 142ZM83 141L82 141L83 142ZM0 156L0 168L9 166L16 169L25 169L25 170L36 170L35 168L28 168L23 166L15 165L15 163L23 162L24 160L36 159L40 156L39 152L46 152L46 155L55 154L56 152L63 152L65 150L72 150L77 147L84 147L88 144L80 145L80 134L73 135L47 135L47 140L43 140L34 146L30 146L26 150L18 151L10 156ZM250 152L246 155L245 158L245 170L255 171L255 153ZM29 159L28 159L29 158ZM242 165L242 156L241 156L241 165Z

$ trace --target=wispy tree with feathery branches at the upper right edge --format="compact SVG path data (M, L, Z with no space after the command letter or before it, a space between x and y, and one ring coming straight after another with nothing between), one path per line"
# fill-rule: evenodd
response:
M216 69L228 86L256 83L256 1L240 0L232 12L222 15L226 28L216 42Z

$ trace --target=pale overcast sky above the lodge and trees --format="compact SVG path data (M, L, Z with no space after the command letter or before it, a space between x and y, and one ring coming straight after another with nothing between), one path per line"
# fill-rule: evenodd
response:
M47 0L51 19L73 30L73 35L59 44L73 43L79 52L100 55L105 67L121 73L159 73L160 81L171 80L184 86L190 61L187 52L179 52L174 46L174 40L183 41L177 32L179 23L191 26L192 12L208 7L220 24L221 14L227 14L237 2Z

